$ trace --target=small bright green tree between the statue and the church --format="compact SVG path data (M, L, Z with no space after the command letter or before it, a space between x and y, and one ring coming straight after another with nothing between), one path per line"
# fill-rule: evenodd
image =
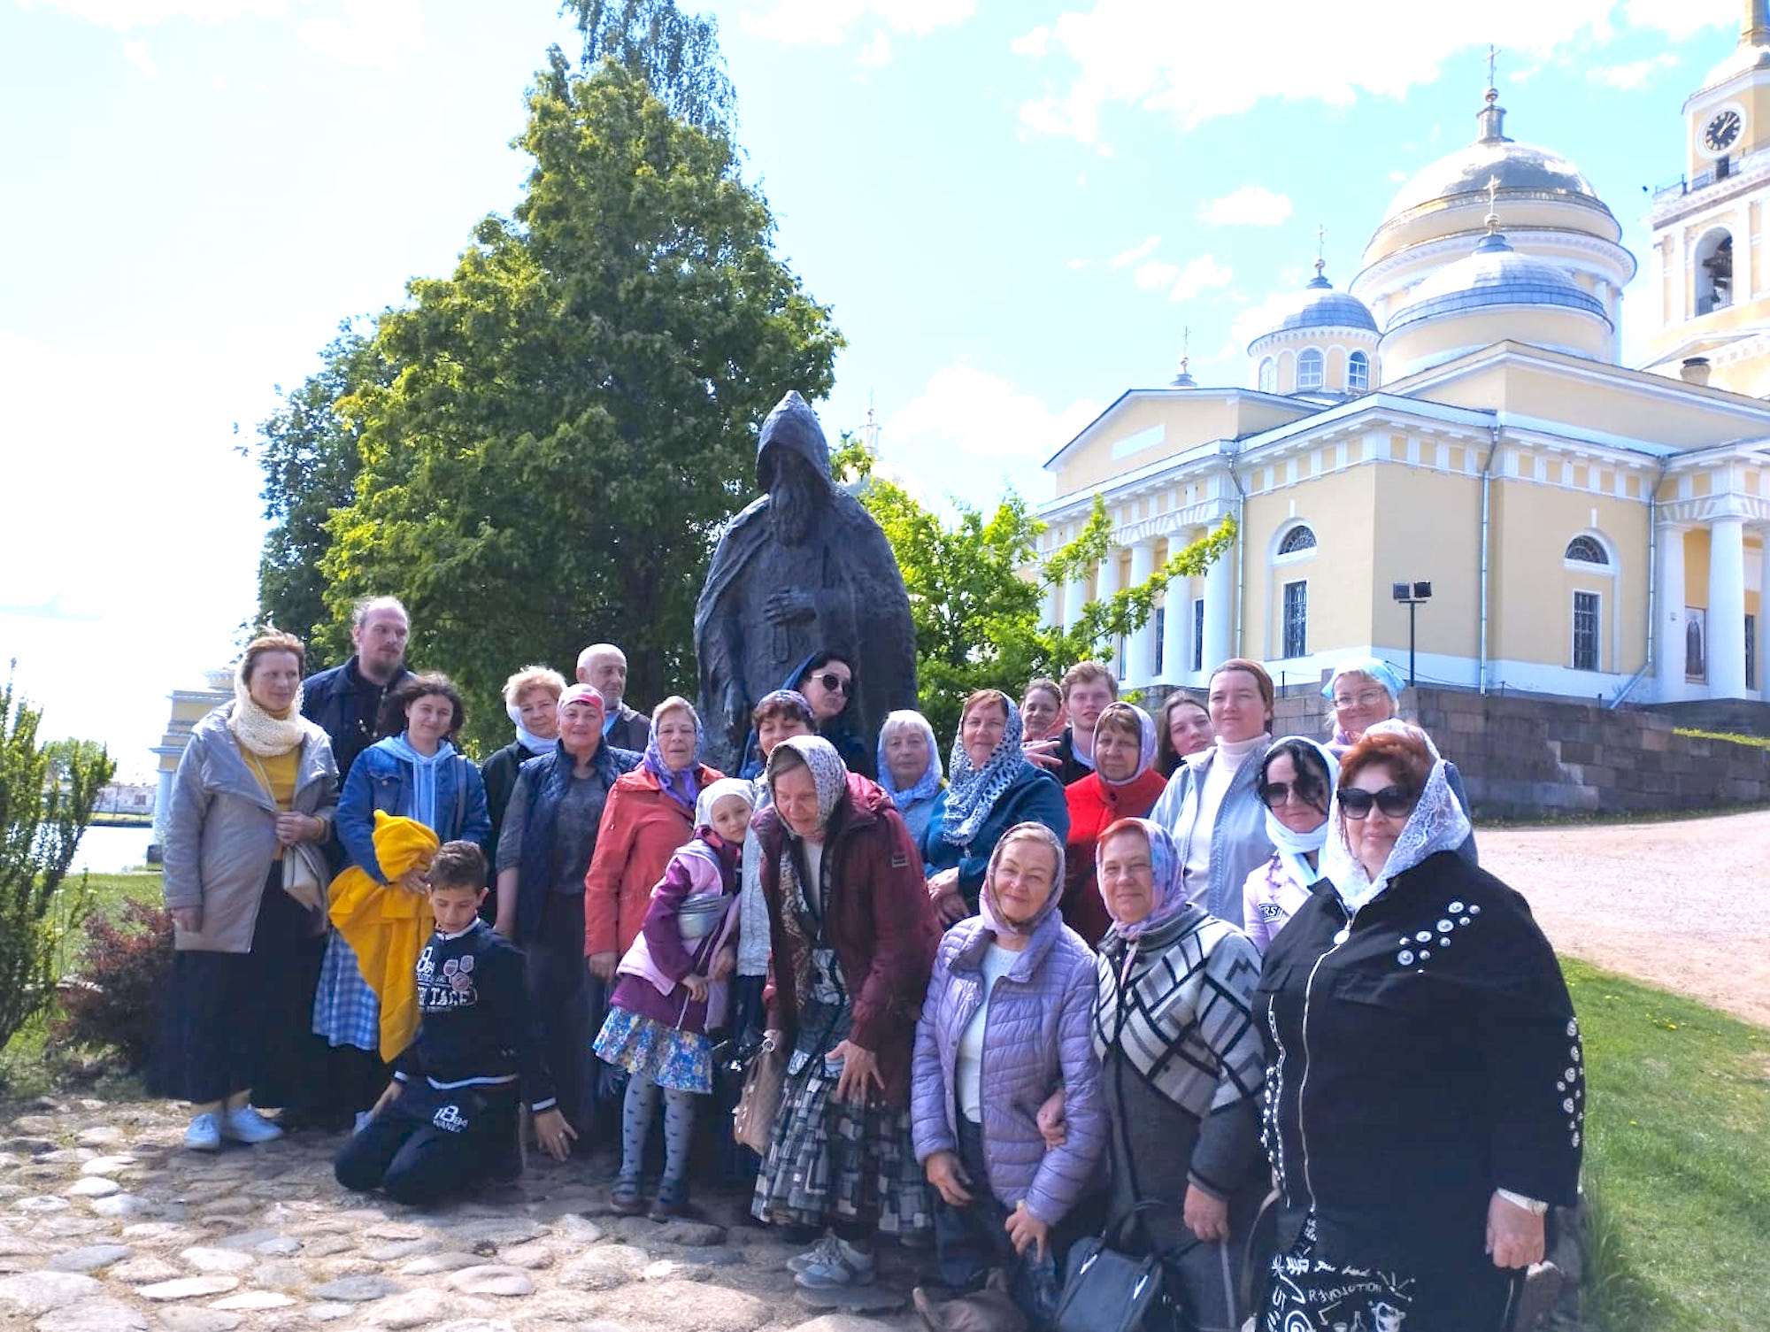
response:
M1099 496L1074 540L1041 556L1044 523L1012 491L993 514L956 501L947 523L901 485L873 476L871 459L851 436L834 462L839 475L862 484L860 501L897 554L915 620L917 693L942 744L958 732L959 705L974 689L1002 689L1018 700L1027 680L1060 677L1147 623L1172 579L1202 574L1235 540L1235 521L1225 519L1143 583L1089 602L1066 631L1043 623L1044 600L1106 554L1112 521Z

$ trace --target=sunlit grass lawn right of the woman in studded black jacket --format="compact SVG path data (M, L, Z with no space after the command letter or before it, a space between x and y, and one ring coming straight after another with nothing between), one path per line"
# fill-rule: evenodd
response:
M1770 1328L1770 1031L1563 960L1586 1042L1600 1332Z

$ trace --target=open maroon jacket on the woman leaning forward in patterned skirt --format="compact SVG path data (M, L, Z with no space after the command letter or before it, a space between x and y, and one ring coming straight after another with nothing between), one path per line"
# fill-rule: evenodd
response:
M770 1027L793 1038L798 997L791 942L782 925L781 850L786 829L770 806L756 815L750 836L763 852L763 896L773 935L773 1008ZM940 923L927 900L922 857L910 829L876 783L848 774L848 792L825 829L823 871L830 886L830 941L848 978L855 1024L850 1040L880 1061L885 1105L910 1102L915 1020L927 994L940 946Z

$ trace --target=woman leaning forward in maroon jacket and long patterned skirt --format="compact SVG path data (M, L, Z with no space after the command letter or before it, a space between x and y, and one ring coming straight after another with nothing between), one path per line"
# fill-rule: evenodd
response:
M910 1142L910 1061L940 925L903 815L828 740L781 740L765 779L773 804L752 836L773 941L768 1026L791 1056L750 1212L832 1227L788 1263L800 1286L864 1286L874 1235L935 1224Z

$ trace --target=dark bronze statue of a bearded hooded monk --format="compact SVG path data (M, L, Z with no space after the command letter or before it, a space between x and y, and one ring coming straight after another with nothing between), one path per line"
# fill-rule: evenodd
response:
M750 709L796 687L832 652L855 673L848 707L825 726L850 765L873 776L880 723L915 707L915 625L885 533L830 476L818 416L788 393L763 422L756 484L765 494L726 526L694 608L706 762L740 772ZM858 756L864 755L864 760ZM857 762L858 760L858 762Z

